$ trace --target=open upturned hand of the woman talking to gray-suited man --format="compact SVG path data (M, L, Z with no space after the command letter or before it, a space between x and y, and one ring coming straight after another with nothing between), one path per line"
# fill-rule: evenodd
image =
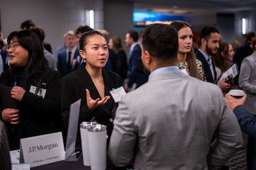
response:
M106 104L106 102L108 102L109 99L110 99L110 96L106 96L102 98L102 100L100 100L100 98L93 100L90 95L90 91L86 89L86 101L87 101L88 109L90 111L97 109L97 107L99 107L102 104Z

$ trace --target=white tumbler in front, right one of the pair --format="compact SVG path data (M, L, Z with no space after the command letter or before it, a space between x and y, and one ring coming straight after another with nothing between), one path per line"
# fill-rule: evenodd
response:
M107 127L97 124L88 126L88 142L92 170L107 168Z

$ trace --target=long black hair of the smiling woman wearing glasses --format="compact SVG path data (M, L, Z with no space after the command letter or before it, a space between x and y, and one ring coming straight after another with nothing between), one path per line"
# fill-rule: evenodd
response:
M30 30L13 31L7 38L7 43L10 45L11 40L17 38L20 46L28 50L28 62L25 66L25 84L24 88L28 88L29 84L35 83L38 88L42 72L47 68L47 60L44 57L44 48L38 36ZM10 76L13 77L14 66L10 66Z

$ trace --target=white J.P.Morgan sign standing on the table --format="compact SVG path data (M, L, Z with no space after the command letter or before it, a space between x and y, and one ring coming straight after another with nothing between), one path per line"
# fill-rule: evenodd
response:
M64 157L61 132L20 139L20 163L35 167L64 160Z

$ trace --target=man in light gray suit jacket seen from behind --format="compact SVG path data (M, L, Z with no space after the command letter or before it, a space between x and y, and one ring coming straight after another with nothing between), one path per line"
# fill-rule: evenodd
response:
M241 148L239 124L220 88L181 72L177 50L172 26L152 24L143 32L141 59L150 75L118 103L108 150L115 166L218 169Z

